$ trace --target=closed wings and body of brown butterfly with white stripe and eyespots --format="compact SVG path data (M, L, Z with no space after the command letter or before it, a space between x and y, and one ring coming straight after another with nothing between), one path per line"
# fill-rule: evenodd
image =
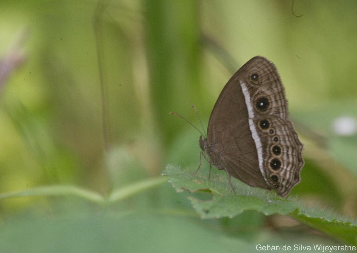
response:
M275 66L254 57L228 81L200 147L208 161L244 183L287 195L300 181L303 146L287 119Z

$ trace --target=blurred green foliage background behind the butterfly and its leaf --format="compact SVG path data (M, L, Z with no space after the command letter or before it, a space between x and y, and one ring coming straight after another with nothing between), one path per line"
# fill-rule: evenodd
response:
M169 112L200 128L194 104L206 128L223 86L260 55L277 66L305 144L292 193L356 217L357 136L332 128L357 118L356 11L354 0L296 0L293 11L288 0L0 1L0 249L338 245L283 216L200 220L160 174L199 164L200 134ZM32 194L51 185L123 191L111 205ZM36 196L6 195L17 191Z

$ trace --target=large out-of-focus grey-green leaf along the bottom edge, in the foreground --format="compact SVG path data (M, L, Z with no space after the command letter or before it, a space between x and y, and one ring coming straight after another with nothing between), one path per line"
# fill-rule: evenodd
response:
M59 207L57 207L59 209ZM188 219L133 212L88 212L29 217L17 215L2 221L2 252L255 252L260 245L336 245L316 234L273 231L244 236L227 236L217 226ZM304 251L294 251L304 252Z

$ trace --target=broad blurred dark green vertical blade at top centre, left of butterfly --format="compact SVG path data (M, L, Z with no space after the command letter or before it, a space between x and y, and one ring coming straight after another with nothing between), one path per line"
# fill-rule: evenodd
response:
M197 1L144 1L151 101L163 141L176 129L169 112L199 94L201 50ZM168 18L169 17L169 18ZM175 94L175 95L174 95ZM187 111L191 104L187 105Z

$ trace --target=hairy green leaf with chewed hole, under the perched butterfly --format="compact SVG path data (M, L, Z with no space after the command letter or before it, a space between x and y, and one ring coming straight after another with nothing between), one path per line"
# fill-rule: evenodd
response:
M177 192L188 190L190 193L210 193L207 200L189 196L193 208L201 218L234 217L245 210L255 210L265 215L289 215L297 221L315 228L341 242L357 245L357 223L348 217L321 208L308 207L297 197L282 198L275 192L252 188L232 178L234 194L225 176L208 177L191 174L187 169L168 165L162 175L169 176L169 182Z

